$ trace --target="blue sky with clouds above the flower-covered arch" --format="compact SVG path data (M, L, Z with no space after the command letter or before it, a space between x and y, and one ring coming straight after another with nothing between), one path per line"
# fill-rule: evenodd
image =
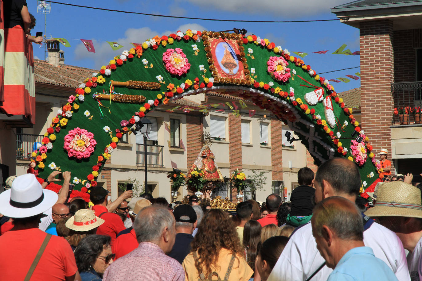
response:
M65 0L62 2L170 16L264 21L335 19L330 8L347 3L341 0L213 0L212 3L208 0ZM43 32L44 15L37 14L37 1L27 0L27 4L30 13L37 19L37 25L32 33ZM347 44L346 48L352 52L359 51L359 29L349 27L340 21L303 23L203 21L116 13L51 3L51 13L47 15L46 34L47 37L51 35L69 40L71 47L61 48L65 51L66 64L99 69L116 54L132 48L130 42L142 43L155 35L169 35L177 30L222 31L233 27L245 28L248 30L247 35L255 34L261 38L268 38L289 51L309 53L303 61L310 64L317 73L360 65L358 55L331 54L343 44ZM88 52L79 39L93 40L96 53ZM116 41L124 48L113 51L106 41ZM322 50L329 51L327 54L311 54ZM43 59L44 47L38 48L38 45L34 44L34 56ZM356 72L360 72L360 69L323 75L327 79L336 79L345 77L346 74L355 75ZM360 87L360 80L331 83L338 92Z

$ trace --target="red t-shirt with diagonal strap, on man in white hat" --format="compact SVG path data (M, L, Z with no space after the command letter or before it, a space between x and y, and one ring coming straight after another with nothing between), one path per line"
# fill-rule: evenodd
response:
M24 280L46 235L38 228L29 228L10 230L0 236L0 279ZM77 270L68 241L53 235L31 281L65 280L65 276L73 276Z

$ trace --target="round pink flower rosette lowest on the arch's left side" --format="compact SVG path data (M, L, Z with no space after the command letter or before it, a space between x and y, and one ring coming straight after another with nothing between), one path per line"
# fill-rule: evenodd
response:
M81 160L89 158L95 150L97 142L94 134L85 129L74 128L65 136L65 145L63 148L68 152L69 157L75 157Z

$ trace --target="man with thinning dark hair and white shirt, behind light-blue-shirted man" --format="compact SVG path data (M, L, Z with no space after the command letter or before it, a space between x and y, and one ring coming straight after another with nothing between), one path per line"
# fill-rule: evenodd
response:
M361 187L359 169L347 159L332 158L319 166L314 186L316 203L332 196L340 196L354 203ZM375 257L392 269L398 280L410 281L403 244L395 233L363 214L361 223L365 230L365 246L370 247ZM332 271L325 265L317 249L312 226L308 222L292 233L267 281L327 280Z

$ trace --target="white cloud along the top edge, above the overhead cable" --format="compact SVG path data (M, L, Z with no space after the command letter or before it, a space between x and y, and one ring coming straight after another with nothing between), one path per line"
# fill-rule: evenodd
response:
M190 3L198 5L203 9L217 8L223 11L233 13L254 13L285 16L289 19L297 16L305 16L317 13L329 13L330 8L344 4L344 0L186 0ZM265 19L262 19L265 20ZM280 19L282 20L282 19Z

